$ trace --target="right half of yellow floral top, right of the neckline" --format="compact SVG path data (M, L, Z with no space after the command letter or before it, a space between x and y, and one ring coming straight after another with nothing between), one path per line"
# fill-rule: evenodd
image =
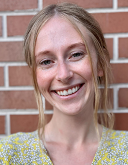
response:
M128 131L103 128L100 146L92 164L127 164Z

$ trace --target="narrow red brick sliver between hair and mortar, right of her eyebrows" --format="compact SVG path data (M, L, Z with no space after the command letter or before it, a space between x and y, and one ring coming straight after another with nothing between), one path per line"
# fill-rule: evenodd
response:
M105 39L106 44L107 44L107 48L110 54L110 58L113 58L113 39L112 38L106 38Z

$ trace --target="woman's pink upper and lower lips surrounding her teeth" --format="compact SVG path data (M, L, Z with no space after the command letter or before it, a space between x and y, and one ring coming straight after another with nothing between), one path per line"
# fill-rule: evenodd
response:
M68 88L61 88L61 89L59 89L59 90L68 90L68 89L71 89L71 88L76 87L76 86L79 86L79 85L81 86L81 87L79 88L79 90L78 90L77 92L71 94L71 95L60 96L60 95L58 95L58 94L55 92L55 90L52 90L51 92L52 92L52 94L54 94L55 96L57 96L57 97L60 98L60 99L63 99L63 100L72 99L72 98L76 97L76 96L82 91L83 87L85 86L85 83L73 85L73 86L70 86L70 87L68 87ZM59 91L59 90L57 90L57 91Z

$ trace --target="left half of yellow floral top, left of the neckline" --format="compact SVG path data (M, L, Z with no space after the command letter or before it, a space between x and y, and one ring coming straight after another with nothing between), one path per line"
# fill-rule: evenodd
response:
M46 158L37 131L16 133L0 140L0 164L43 164Z

